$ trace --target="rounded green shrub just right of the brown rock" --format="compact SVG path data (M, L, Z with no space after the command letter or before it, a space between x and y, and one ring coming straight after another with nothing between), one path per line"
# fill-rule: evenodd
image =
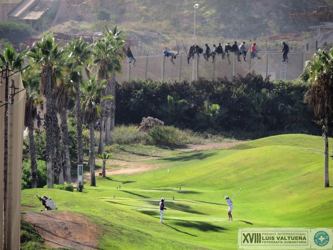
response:
M148 132L149 141L153 144L172 146L185 145L185 135L174 126L153 126Z

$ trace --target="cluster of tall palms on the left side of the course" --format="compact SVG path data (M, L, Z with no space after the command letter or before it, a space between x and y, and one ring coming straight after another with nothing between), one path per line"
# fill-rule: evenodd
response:
M110 143L110 132L114 129L115 74L121 72L124 58L124 34L117 27L103 32L94 44L82 39L72 40L65 47L45 35L31 49L17 54L11 46L0 54L0 67L9 64L11 70L22 71L26 88L25 125L29 129L32 187L36 188L36 153L34 144L34 121L37 106L45 109L47 187L54 183L72 182L67 127L68 104L75 103L77 163L83 164L82 124L90 129L90 185L95 186L95 141L94 131L99 122L99 152L103 153L104 139ZM29 64L24 64L24 58ZM96 74L92 74L96 72ZM42 102L43 97L46 101ZM58 122L57 114L60 117ZM60 127L59 127L60 124ZM106 136L104 136L106 127ZM62 154L63 149L63 154ZM64 155L64 159L63 158ZM63 166L64 165L64 166ZM66 171L66 178L64 173Z

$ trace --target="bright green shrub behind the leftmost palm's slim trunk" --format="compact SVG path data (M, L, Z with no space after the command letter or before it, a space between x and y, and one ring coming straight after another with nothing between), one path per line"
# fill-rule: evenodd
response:
M42 188L46 185L46 163L42 160L36 160L37 162L37 188ZM31 188L31 166L30 160L22 163L22 181L21 189Z

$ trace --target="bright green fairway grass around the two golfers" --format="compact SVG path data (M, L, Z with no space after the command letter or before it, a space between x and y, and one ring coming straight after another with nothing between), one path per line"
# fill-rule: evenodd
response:
M97 186L87 184L82 193L23 190L22 210L42 208L36 194L51 197L57 211L97 223L99 248L106 250L234 250L239 227L332 227L333 188L324 188L323 149L322 137L288 134L184 152L147 161L165 166L158 170L98 176ZM226 220L225 195L232 198L234 221ZM161 197L166 224L159 223Z

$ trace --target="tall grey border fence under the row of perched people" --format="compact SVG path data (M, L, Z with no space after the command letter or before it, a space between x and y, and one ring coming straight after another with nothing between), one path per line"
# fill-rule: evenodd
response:
M247 54L247 62L240 56L241 62L237 61L237 56L229 54L230 63L227 56L222 59L221 55L212 58L209 61L194 56L190 58L187 64L187 54L179 54L172 64L170 57L163 55L139 56L136 57L135 66L131 66L126 59L123 62L122 74L117 76L118 82L131 79L151 79L153 81L174 82L174 81L192 81L199 78L215 80L217 78L232 79L233 76L245 76L249 72L255 71L263 78L269 76L270 80L297 79L304 69L305 62L310 60L315 51L298 51L288 53L288 63L282 63L282 53L279 51L259 51L258 58L251 58L250 52Z

